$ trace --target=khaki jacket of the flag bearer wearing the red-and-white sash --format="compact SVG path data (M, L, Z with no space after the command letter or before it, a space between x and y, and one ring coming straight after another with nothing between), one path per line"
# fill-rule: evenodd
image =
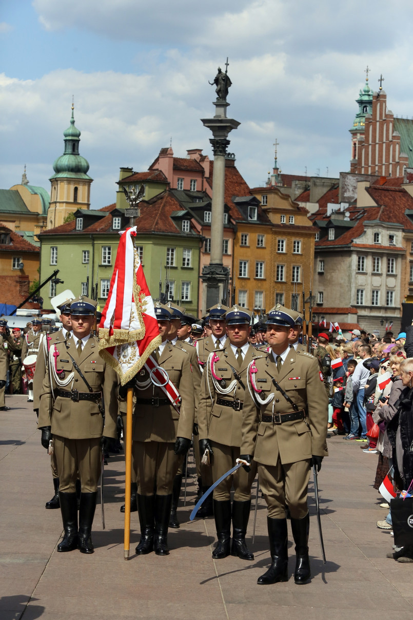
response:
M192 371L188 353L167 342L162 355L152 354L158 365L166 370L169 379L182 399L180 413L171 404L153 406L152 399L166 399L161 387L154 386L146 368L136 375L136 405L133 414L133 441L173 443L177 437L192 438L195 401ZM146 401L146 402L140 402ZM154 401L157 402L157 401Z

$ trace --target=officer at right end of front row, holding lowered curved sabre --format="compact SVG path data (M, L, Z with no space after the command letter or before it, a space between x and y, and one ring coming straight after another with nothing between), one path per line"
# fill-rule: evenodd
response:
M244 401L241 458L258 463L260 487L268 506L267 526L272 564L259 584L288 579L286 508L295 541L295 583L310 577L307 487L310 467L327 455L328 401L313 355L290 348L295 319L275 308L267 317L272 348L248 371ZM247 467L248 469L248 467Z

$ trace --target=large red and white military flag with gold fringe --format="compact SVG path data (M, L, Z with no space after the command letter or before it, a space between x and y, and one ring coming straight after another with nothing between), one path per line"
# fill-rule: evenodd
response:
M99 325L99 351L125 385L161 344L153 299L133 244L136 226L122 232Z

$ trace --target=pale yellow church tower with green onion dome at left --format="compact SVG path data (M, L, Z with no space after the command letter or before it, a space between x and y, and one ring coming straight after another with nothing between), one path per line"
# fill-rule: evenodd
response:
M87 174L89 162L79 155L81 132L74 125L74 105L70 126L63 133L64 153L53 164L55 174L50 177L50 206L47 213L47 228L64 223L69 213L78 209L89 209L91 205L91 177Z

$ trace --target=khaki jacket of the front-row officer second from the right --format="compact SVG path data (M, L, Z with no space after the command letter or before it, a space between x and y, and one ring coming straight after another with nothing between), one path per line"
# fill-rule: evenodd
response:
M226 340L223 349L214 353L220 358L214 364L214 372L219 380L211 376L211 357L208 358L207 366L202 374L201 396L198 406L198 432L199 439L210 439L224 446L241 446L242 416L244 414L240 404L244 402L244 388L236 381L231 366L241 376L244 386L247 385L247 368L252 360L264 356L260 351L249 345L241 367L233 353L229 340ZM220 391L220 387L226 389L236 381L236 390L228 394ZM218 404L218 399L233 402L233 407ZM239 401L239 403L238 403ZM244 404L242 404L244 407Z

